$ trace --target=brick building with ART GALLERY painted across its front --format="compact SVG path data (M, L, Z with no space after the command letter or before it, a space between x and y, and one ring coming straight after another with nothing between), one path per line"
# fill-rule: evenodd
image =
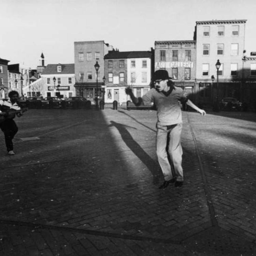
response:
M155 70L166 69L175 86L193 99L196 78L196 41L155 41Z

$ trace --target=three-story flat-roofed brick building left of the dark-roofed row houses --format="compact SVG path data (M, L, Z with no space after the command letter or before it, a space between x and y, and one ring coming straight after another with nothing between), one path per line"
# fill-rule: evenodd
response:
M104 98L104 56L112 49L113 46L103 40L74 42L76 95L83 96L92 104L96 103L97 87L98 98ZM98 73L94 67L96 62L99 65Z

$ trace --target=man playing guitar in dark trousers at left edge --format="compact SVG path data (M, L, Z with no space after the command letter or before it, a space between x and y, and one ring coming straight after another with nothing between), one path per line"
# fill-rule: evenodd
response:
M15 134L18 132L18 127L14 122L14 117L17 115L18 117L23 115L20 107L18 106L19 94L17 91L10 91L8 94L9 100L0 100L0 115L5 116L6 118L0 123L0 128L4 133L5 145L7 148L8 155L15 155L13 152L13 138ZM14 113L8 114L11 112L10 110L14 110ZM17 113L17 112L18 113ZM16 112L16 113L15 113Z

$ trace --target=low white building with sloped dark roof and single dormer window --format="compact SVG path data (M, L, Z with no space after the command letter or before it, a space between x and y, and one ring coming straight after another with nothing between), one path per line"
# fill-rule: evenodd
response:
M74 64L48 64L41 77L24 88L28 97L68 98L75 96Z

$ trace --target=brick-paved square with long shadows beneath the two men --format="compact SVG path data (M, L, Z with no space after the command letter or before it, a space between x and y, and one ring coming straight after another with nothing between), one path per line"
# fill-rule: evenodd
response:
M0 150L0 255L256 255L255 113L183 112L185 182L165 190L155 111L15 120L17 154Z

